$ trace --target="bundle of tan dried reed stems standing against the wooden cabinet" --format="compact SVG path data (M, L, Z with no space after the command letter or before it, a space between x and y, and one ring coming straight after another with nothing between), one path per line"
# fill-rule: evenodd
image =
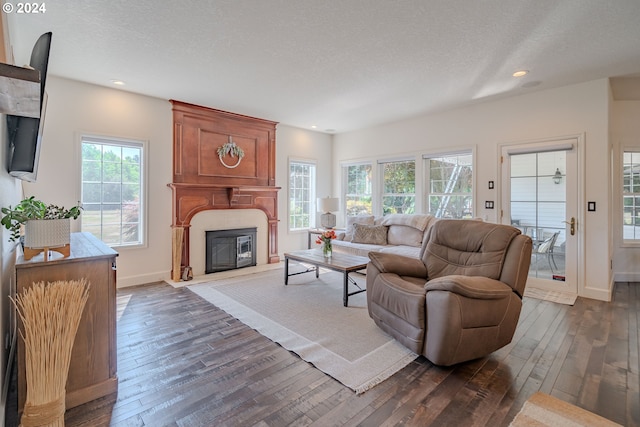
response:
M16 296L27 381L21 426L64 426L71 350L88 296L85 279L34 283Z

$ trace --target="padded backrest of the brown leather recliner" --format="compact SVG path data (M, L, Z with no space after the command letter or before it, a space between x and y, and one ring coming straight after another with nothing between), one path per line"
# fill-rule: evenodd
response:
M515 227L473 220L439 220L421 252L428 280L461 274L500 280ZM527 266L528 270L528 266ZM509 283L514 286L513 283Z

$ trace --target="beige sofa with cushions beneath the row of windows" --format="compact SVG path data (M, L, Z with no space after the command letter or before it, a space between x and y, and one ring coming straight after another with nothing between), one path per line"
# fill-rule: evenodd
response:
M369 252L383 252L420 257L420 248L435 217L425 214L390 214L347 217L344 232L332 242L334 252L366 257Z

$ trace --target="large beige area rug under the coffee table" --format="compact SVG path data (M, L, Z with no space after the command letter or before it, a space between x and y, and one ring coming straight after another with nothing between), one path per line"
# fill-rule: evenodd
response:
M290 273L300 269L289 266ZM364 287L364 276L354 276ZM318 279L300 274L285 286L280 268L188 288L356 393L418 357L373 323L365 292L349 297L344 307L339 273L321 270Z

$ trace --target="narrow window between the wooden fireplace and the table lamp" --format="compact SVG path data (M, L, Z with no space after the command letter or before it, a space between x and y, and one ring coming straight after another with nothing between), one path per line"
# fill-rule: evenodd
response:
M316 165L289 161L289 230L306 230L316 224Z

